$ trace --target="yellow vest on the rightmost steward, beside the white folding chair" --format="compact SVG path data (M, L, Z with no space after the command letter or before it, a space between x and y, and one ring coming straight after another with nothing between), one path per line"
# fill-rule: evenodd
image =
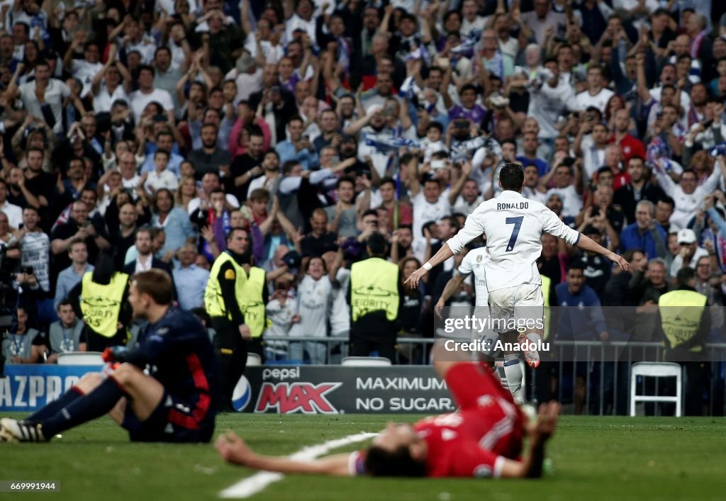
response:
M693 290L672 290L658 299L661 326L670 349L687 345L698 335L706 301L706 296ZM703 346L690 347L694 352L702 349Z

